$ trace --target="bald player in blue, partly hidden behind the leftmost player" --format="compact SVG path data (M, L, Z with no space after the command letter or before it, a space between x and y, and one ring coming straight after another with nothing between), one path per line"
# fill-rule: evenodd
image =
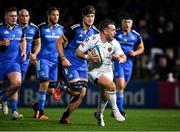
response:
M17 58L21 66L22 81L24 81L25 75L26 75L26 72L30 63L30 58L31 58L31 62L35 62L36 55L39 53L40 48L41 48L41 43L40 43L40 34L39 34L38 27L34 25L33 23L29 22L30 16L29 16L29 12L26 9L22 9L19 11L18 20L19 20L19 25L22 27L24 31L24 35L26 36L26 43L27 43L26 44L27 46L26 47L26 54L27 54L26 61L22 60L20 52ZM31 53L32 47L34 47L33 53ZM18 96L18 92L16 93L16 96ZM12 106L12 109L17 111L16 101L11 101L11 106ZM7 113L7 106L4 108L6 109L3 109L3 113Z

